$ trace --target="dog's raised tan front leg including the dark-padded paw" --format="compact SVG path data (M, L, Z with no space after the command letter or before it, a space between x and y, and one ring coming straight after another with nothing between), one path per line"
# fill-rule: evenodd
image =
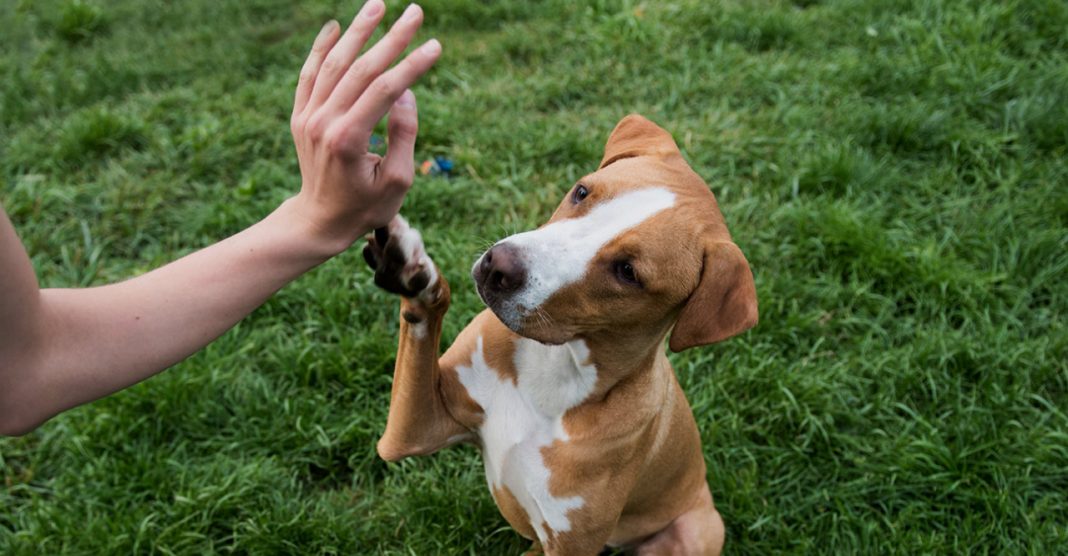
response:
M468 436L449 412L438 363L449 283L426 255L419 232L397 216L363 250L375 284L400 296L400 338L386 432L378 455L388 461L431 454Z

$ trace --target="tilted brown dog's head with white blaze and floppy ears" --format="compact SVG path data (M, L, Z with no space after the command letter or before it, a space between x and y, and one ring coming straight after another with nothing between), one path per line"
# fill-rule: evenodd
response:
M499 241L472 274L502 322L549 344L659 338L678 319L678 350L756 321L752 274L716 197L671 136L641 116L619 123L601 168L546 225Z

